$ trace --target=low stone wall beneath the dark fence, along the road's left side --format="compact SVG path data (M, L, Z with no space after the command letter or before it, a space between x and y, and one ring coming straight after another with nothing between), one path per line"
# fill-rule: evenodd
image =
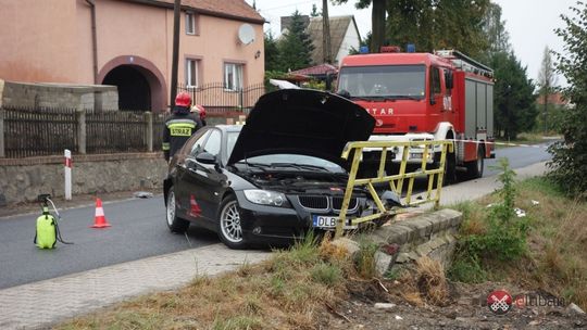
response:
M0 206L36 201L39 193L63 196L63 156L0 158ZM160 188L166 170L159 152L74 155L72 192Z

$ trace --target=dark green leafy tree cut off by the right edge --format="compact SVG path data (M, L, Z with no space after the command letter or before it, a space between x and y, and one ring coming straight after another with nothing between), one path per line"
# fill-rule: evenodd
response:
M563 96L573 106L561 123L564 140L549 148L549 176L569 194L587 198L587 4L571 8L574 17L561 15L564 28L555 29L564 41L564 52L555 52L557 71L569 82Z

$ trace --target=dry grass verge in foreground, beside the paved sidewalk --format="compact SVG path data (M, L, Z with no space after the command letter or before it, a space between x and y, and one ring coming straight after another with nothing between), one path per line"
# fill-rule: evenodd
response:
M272 259L245 264L179 291L157 293L76 318L58 329L314 329L347 297L352 262L329 242L302 242Z

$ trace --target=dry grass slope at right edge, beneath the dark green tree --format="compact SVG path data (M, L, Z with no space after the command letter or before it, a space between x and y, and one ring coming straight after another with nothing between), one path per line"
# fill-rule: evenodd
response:
M540 204L533 205L532 200ZM564 198L544 179L523 182L519 201L534 224L526 263L533 271L524 278L586 309L587 204Z

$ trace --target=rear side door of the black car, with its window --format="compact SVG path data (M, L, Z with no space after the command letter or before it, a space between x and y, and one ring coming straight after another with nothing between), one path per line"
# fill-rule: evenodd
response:
M175 201L177 214L182 218L190 220L195 218L192 216L193 206L190 195L191 183L189 183L192 180L190 166L196 155L203 150L203 143L209 136L210 129L196 132L178 152L177 163L175 164Z

